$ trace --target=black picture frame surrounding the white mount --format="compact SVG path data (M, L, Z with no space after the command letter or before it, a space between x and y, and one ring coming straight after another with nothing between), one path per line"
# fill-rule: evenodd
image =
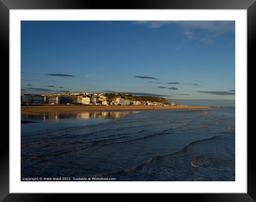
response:
M247 10L247 66L252 66L254 57L253 50L256 47L256 0L137 0L137 1L78 1L78 0L0 0L0 44L3 50L1 54L2 75L9 75L9 10L10 9L246 9ZM246 67L245 67L246 68ZM252 67L251 67L252 68ZM5 72L6 71L6 72ZM247 68L248 72L248 68ZM248 74L247 92L252 84L249 77L253 74ZM6 77L6 76L5 76ZM3 77L4 78L4 77ZM6 86L6 80L2 78L2 86ZM247 98L247 108L251 106L248 113L253 114L255 109L252 105L255 104L253 98ZM9 99L2 101L4 113L9 110ZM11 106L9 106L10 108ZM7 112L8 111L8 112ZM8 113L9 114L9 113ZM9 117L9 116L8 116ZM6 119L7 120L7 119ZM252 125L253 118L247 119L248 125ZM9 119L8 119L9 121ZM11 120L10 120L11 121ZM247 135L247 193L207 193L207 194L175 194L179 200L189 201L255 201L256 200L256 167L254 165L254 141L252 140L253 133ZM0 146L0 201L16 202L16 201L74 201L79 197L74 194L21 194L9 193L9 136L5 132L1 134ZM116 197L118 201L132 200L133 195L125 194ZM105 196L98 195L97 200L104 200ZM113 200L114 198L111 198ZM159 198L158 198L159 199ZM86 200L84 198L84 200Z

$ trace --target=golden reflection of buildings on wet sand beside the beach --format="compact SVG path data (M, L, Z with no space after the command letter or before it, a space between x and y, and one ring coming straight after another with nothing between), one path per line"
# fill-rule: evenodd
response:
M69 120L69 119L122 119L129 114L139 111L120 112L70 112L70 113L43 113L41 115L21 114L21 120Z

